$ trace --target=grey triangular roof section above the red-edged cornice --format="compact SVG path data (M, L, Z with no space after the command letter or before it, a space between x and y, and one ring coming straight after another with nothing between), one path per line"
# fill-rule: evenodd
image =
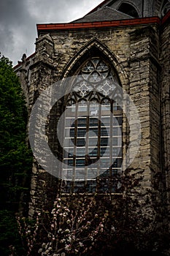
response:
M123 12L119 12L112 7L103 7L94 12L90 12L84 17L72 21L72 23L81 23L81 22L93 22L93 21L106 21L106 20L125 20L133 18L130 15L127 15Z

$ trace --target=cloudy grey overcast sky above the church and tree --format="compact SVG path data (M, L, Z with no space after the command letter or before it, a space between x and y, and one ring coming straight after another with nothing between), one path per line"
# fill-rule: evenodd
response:
M13 65L34 53L36 23L81 18L103 0L0 0L0 52Z

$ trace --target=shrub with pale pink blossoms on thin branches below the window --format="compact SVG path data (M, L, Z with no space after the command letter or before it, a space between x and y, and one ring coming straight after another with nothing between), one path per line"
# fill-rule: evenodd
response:
M95 197L57 197L53 210L37 214L35 222L17 217L26 256L89 255L104 233L108 216L107 210L98 209Z

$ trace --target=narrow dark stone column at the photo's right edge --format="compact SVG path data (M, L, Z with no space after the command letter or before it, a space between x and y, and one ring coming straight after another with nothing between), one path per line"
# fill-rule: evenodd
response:
M161 29L161 121L163 143L163 171L166 189L170 187L170 26L169 20ZM170 193L166 193L170 204Z

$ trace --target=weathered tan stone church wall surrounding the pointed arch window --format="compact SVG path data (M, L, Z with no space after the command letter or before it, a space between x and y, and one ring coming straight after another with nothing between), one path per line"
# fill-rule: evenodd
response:
M166 40L168 32L163 32ZM164 40L164 39L163 39ZM31 65L31 84L29 86L30 109L39 94L52 85L77 71L77 63L84 56L88 56L93 47L103 51L117 70L121 86L130 94L142 126L142 138L139 151L131 171L144 170L144 187L152 184L153 173L161 171L161 137L160 137L160 99L159 99L159 73L158 61L158 26L128 26L119 29L88 29L55 31L39 36L36 40L36 55ZM166 44L164 46L166 48ZM167 48L163 51L167 58ZM163 72L169 72L168 67ZM163 75L166 79L166 76ZM163 87L166 87L162 81ZM165 96L164 96L165 97ZM58 106L56 106L58 108ZM59 109L59 108L58 108ZM60 112L60 111L58 111ZM166 110L164 110L164 116ZM58 113L59 115L59 113ZM59 118L59 116L57 117ZM167 115L166 115L167 118ZM54 120L56 120L54 118ZM52 122L53 123L53 122ZM164 124L164 130L165 130ZM54 130L56 127L54 127ZM166 129L167 131L167 129ZM123 154L128 147L128 127L123 125ZM167 140L164 132L164 140ZM50 138L53 141L53 138ZM55 148L57 148L57 144ZM164 154L167 154L167 150ZM60 153L60 152L59 152ZM40 209L47 202L53 203L58 190L58 181L34 161L31 182L30 215L35 209ZM49 191L48 191L49 190ZM48 191L48 192L47 192Z

